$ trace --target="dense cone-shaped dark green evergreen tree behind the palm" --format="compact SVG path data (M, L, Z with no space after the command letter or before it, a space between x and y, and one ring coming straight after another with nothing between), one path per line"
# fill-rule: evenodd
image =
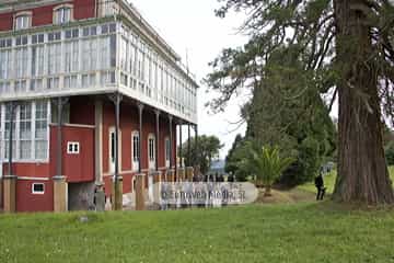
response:
M335 127L314 81L298 73L302 66L297 49L277 48L243 110L247 137L263 146L278 146L281 156L294 159L279 181L288 186L311 181L332 158L336 142ZM302 94L302 100L292 99L294 94Z

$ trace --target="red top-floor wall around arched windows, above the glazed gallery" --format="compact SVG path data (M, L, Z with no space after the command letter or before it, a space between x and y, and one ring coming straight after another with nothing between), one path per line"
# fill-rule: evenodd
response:
M96 13L96 0L73 0L63 1L63 3L73 4L73 18L74 20L85 20L95 18ZM32 11L32 26L50 25L54 20L54 8L59 4L47 4L34 9L19 10ZM0 31L11 31L13 28L13 16L18 12L2 13L0 14Z

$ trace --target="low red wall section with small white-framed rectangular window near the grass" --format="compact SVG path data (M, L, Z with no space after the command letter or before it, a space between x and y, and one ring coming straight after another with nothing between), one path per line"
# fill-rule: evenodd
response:
M45 193L32 194L33 183L44 183ZM54 210L53 181L18 180L16 183L16 210L18 211L51 211Z

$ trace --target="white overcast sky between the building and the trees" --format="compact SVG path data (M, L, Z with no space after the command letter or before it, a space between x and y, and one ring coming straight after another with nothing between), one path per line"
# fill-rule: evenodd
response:
M224 20L215 16L213 11L219 7L217 0L131 0L130 2L183 57L183 61L188 50L189 68L196 73L198 83L210 72L208 62L213 60L222 48L240 46L246 41L245 37L236 34L236 27L242 23L241 15L232 15ZM245 126L232 132L237 127L231 123L239 121L240 103L234 101L225 113L210 115L204 104L213 94L206 93L207 87L201 83L200 85L199 133L218 136L224 144L220 153L221 158L224 158L236 134L245 132Z

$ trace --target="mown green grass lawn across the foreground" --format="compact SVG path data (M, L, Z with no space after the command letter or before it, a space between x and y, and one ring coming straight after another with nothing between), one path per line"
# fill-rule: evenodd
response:
M0 216L0 262L394 262L394 210L332 203Z

